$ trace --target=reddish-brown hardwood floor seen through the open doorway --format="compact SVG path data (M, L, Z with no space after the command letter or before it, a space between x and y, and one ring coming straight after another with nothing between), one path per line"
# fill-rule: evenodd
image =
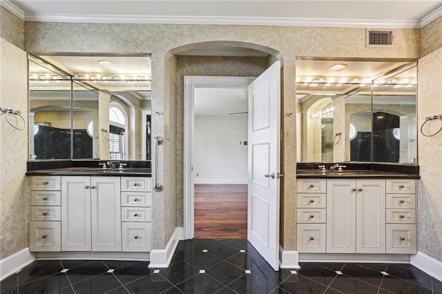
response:
M195 238L247 238L247 185L195 184Z

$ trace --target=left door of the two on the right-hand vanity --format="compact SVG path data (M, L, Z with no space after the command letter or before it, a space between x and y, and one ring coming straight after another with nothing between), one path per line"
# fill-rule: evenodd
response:
M356 180L327 179L327 253L356 252Z

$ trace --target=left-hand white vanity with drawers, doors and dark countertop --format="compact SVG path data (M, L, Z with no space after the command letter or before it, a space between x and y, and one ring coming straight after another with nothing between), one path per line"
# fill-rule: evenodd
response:
M57 168L27 175L30 251L57 256L151 251L149 169Z

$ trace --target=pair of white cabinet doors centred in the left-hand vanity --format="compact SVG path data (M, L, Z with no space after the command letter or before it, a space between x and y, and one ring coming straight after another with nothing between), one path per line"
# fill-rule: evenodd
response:
M61 250L121 251L119 177L61 177Z

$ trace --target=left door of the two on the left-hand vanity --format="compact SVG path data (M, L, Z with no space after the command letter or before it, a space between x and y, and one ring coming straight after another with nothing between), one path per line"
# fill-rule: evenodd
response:
M61 251L90 251L90 177L61 177Z

